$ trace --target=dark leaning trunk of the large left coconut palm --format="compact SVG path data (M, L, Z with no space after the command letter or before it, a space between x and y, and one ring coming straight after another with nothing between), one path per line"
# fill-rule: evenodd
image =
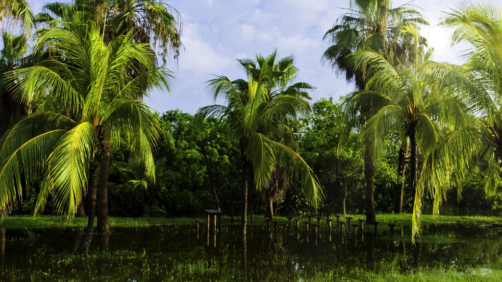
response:
M94 231L94 215L96 212L96 190L97 161L92 160L89 164L89 179L87 182L87 207L89 208L89 215L87 216L87 226L84 229L80 246L78 247L79 253L86 253L89 250L89 245L92 240L92 233Z

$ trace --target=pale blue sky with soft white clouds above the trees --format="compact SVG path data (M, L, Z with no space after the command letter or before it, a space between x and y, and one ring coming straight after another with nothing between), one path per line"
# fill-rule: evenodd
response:
M39 13L46 2L52 1L28 2ZM495 4L496 0L491 2ZM422 9L432 23L423 35L434 48L433 59L460 63L459 48L449 47L450 31L436 27L441 13L455 8L459 1L395 0L392 6L407 3ZM328 47L322 36L345 13L347 0L172 0L168 4L181 14L185 50L177 63L168 62L177 77L171 93L153 91L145 99L159 112L179 108L195 113L199 107L212 104L204 91L205 81L213 75L241 78L237 58L267 55L274 48L280 57L295 55L300 69L298 81L316 87L311 92L314 100L330 96L336 100L353 90L353 85L320 63Z

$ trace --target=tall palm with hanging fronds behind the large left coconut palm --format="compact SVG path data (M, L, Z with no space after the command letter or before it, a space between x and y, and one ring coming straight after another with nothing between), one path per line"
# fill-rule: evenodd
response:
M71 4L50 3L45 5L49 14L39 14L37 18L46 23L54 23L54 19L64 22L75 19L91 19L100 26L104 26L103 40L109 42L123 33L132 33L134 42L146 44L154 58L151 66L138 63L129 72L131 79L145 73L149 67L157 65L155 50L166 62L166 56L174 51L176 58L181 48L181 18L178 11L164 1L151 0L82 0ZM173 16L176 15L175 16ZM143 99L146 89L138 89L138 99ZM103 186L101 186L103 187ZM100 190L97 194L97 228L108 230L108 192Z

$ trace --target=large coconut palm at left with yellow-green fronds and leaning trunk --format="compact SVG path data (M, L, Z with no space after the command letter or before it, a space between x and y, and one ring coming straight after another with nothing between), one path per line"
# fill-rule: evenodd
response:
M158 137L158 120L136 97L145 89L169 90L171 74L163 67L151 67L155 58L150 46L135 43L132 33L106 43L92 22L59 23L40 30L35 51L40 50L64 55L9 72L13 97L30 102L50 95L60 99L70 114L36 112L4 135L0 208L9 212L20 199L21 171L27 183L43 172L36 214L51 194L55 209L70 220L86 191L89 215L80 248L86 251L94 225L98 167L99 191L106 192L110 152L119 148L120 140L144 163L147 175L155 175L152 145ZM138 62L148 71L133 79L124 70ZM98 231L109 231L108 222Z

